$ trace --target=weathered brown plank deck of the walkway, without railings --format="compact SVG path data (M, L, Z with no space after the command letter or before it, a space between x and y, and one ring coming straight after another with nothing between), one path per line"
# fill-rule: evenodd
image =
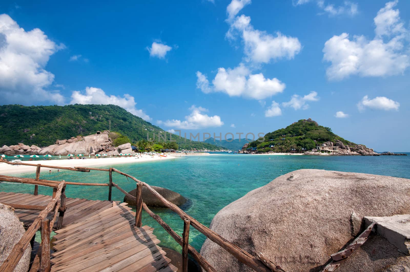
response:
M51 196L0 192L0 202L46 206ZM8 202L7 202L8 201ZM15 209L26 227L40 211ZM53 211L48 218L53 216ZM126 203L66 198L63 228L56 231L52 272L174 272L177 268L158 246L153 228L134 225Z

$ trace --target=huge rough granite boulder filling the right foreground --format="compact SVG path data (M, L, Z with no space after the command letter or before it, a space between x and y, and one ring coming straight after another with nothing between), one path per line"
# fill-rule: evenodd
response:
M297 170L225 206L210 228L254 256L262 252L286 271L319 271L330 254L363 230L364 216L410 213L409 192L409 179ZM383 271L410 261L397 249L371 245L372 240L380 242L371 238L355 253L366 258L348 258L338 271ZM200 253L216 271L252 271L209 239Z

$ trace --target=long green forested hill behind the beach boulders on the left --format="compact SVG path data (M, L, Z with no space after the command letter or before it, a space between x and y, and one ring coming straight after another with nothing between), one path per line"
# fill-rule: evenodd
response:
M115 105L66 105L66 106L0 106L0 146L24 143L26 145L47 146L57 139L95 134L108 130L120 132L136 143L153 138L164 129L152 125ZM219 150L220 148L203 142L189 141L177 135L172 136L182 149ZM169 134L167 133L169 140ZM155 138L157 141L157 137Z

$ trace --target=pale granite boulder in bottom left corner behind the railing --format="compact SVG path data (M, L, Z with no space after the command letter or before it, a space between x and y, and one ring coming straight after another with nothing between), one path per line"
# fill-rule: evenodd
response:
M18 243L25 229L23 223L14 214L14 209L0 203L0 265L9 256L14 245ZM14 272L27 272L30 265L31 246L28 245L23 257L18 262Z

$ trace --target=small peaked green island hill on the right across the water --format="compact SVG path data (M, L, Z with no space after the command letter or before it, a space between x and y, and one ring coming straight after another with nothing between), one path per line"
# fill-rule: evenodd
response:
M261 140L258 139L258 140ZM350 141L334 134L330 127L323 127L312 119L302 119L285 128L269 132L264 141L253 141L249 147L257 147L256 152L289 152L292 149L299 151L302 148L311 150L317 144L327 141L341 141L345 145L355 145ZM316 141L316 143L315 143ZM273 147L271 147L273 145Z

